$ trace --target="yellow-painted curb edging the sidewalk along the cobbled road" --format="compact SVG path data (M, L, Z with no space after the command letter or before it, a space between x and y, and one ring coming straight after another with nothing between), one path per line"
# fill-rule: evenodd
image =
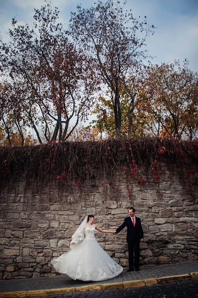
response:
M83 291L98 291L98 290L113 290L120 288L135 288L143 286L152 286L156 284L168 284L172 282L182 282L192 279L198 279L198 272L191 272L189 274L165 276L160 278L149 278L145 280L134 280L128 282L112 283L112 284L96 284L82 287L60 288L60 289L46 289L33 291L18 291L18 292L4 292L0 293L0 298L18 298L18 297L38 297L51 296L58 294L83 292Z

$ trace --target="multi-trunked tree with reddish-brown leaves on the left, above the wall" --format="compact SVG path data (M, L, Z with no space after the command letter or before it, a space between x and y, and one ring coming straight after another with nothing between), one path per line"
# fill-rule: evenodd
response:
M0 45L0 70L11 79L26 124L40 143L41 127L46 141L71 135L86 119L97 85L92 59L70 41L58 14L46 3L35 9L32 28L13 19L10 42Z

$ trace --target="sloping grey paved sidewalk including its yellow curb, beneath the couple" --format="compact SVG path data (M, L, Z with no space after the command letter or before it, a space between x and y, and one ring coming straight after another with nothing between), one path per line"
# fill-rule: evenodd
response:
M7 292L24 291L26 292L26 294L24 293L23 297L28 297L27 292L29 291L38 291L38 290L49 291L51 289L55 289L55 290L67 289L69 291L69 288L75 288L75 289L80 287L85 288L85 286L87 289L88 288L94 289L94 286L97 287L97 285L100 285L100 287L103 287L103 286L108 287L108 284L109 286L111 285L113 289L113 288L116 288L117 285L120 285L121 283L124 283L127 286L128 283L126 282L140 281L140 280L144 281L144 284L147 285L145 281L149 279L160 279L162 277L179 276L184 274L190 274L192 272L198 272L198 260L176 263L176 264L169 264L169 265L152 266L145 269L140 268L138 272L132 271L128 273L127 271L124 271L116 278L100 281L100 282L82 282L79 280L74 281L67 276L0 280L0 297L6 297L6 296L3 296L2 293L5 294ZM189 277L191 278L191 276ZM198 275L196 275L195 278L198 278ZM77 291L77 289L75 291ZM41 295L36 295L35 293L35 296L41 296ZM10 297L14 297L14 296L10 296Z

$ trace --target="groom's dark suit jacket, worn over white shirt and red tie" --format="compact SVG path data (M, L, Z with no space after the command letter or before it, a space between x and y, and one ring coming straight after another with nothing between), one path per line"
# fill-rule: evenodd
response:
M119 233L125 226L127 226L127 241L134 241L143 238L141 221L138 217L135 216L135 226L133 226L130 216L126 218L124 223L116 229L117 233Z

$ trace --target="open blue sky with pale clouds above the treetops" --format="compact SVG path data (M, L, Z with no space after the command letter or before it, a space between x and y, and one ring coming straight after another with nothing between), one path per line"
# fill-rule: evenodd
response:
M88 8L95 0L51 0L58 6L60 21L68 25L70 12L76 6ZM97 2L97 1L96 1ZM102 0L105 2L105 0ZM121 0L122 2L122 0ZM0 36L8 39L8 28L13 17L20 24L33 22L34 7L40 8L44 0L0 0ZM134 16L141 19L146 15L147 22L154 25L154 35L147 38L148 54L152 63L181 63L187 59L189 68L198 71L198 0L127 0L127 8L132 8Z

